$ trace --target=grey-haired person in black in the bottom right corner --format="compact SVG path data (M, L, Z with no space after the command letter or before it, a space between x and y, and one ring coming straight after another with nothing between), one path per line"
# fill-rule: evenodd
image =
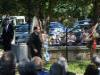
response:
M92 63L85 70L84 75L100 75L100 56L93 55Z

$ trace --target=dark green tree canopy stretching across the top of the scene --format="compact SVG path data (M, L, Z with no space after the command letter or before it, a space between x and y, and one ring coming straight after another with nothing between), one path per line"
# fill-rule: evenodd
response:
M41 19L64 16L69 25L73 23L69 16L84 19L92 17L93 13L93 0L0 0L0 14L30 14Z

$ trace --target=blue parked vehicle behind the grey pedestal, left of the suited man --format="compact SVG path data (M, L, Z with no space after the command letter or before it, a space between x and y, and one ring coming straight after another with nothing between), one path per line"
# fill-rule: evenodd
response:
M16 26L15 32L15 42L16 43L25 43L28 39L28 24L20 24Z

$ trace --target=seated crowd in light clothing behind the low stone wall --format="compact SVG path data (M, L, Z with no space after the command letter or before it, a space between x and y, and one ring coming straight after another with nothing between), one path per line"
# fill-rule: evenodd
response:
M67 33L61 33L59 35L52 35L49 38L49 45L59 45L59 46L75 46L75 45L87 45L87 43L92 40L91 37L91 31L92 28L87 29L83 28L79 32L67 32ZM94 33L94 36L96 36L96 43L100 44L100 34L98 32ZM67 42L67 43L66 43Z

